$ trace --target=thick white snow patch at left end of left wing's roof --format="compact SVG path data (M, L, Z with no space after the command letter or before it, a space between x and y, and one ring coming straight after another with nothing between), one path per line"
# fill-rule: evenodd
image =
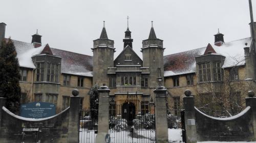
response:
M12 40L17 51L17 58L20 67L35 69L31 59L33 55L40 54L44 46L34 48L33 44Z

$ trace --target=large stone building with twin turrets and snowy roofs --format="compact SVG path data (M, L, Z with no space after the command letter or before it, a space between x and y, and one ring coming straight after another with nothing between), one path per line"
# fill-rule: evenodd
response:
M0 23L0 40L5 39L5 27L5 23ZM31 43L13 40L22 75L22 102L52 102L62 110L69 106L68 96L77 88L83 99L81 107L89 108L88 93L97 83L111 89L110 96L116 104L126 104L127 94L137 94L141 105L127 107L141 108L143 115L148 112L150 99L155 99L154 89L164 85L168 91L168 109L178 115L187 89L203 95L209 91L202 87L209 84L212 92L219 94L227 75L231 82L250 82L254 86L253 35L224 42L224 35L218 32L215 42L206 47L168 54L164 53L163 40L157 38L153 25L142 47L133 47L127 26L123 50L114 59L114 41L108 38L105 26L100 38L93 41L93 56L42 45L41 36L36 33ZM142 59L133 48L141 48Z

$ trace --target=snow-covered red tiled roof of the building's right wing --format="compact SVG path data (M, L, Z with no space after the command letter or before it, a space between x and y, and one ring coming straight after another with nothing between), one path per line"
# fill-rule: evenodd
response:
M222 68L241 66L245 64L245 43L251 44L251 38L223 43L222 46L211 44L217 53L224 55L225 61ZM203 55L206 47L169 54L164 56L164 77L196 72L196 56Z

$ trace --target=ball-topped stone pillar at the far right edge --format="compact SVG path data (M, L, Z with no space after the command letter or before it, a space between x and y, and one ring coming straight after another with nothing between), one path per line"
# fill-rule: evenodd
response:
M245 98L246 107L250 106L252 111L252 127L253 127L253 135L254 140L256 141L256 98L254 97L254 92L249 91L248 92L248 98Z

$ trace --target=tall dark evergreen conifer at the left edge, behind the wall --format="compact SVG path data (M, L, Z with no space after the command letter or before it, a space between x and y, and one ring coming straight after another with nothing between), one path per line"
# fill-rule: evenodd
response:
M17 113L20 106L19 64L12 40L3 40L0 45L0 91L7 98L6 107Z

